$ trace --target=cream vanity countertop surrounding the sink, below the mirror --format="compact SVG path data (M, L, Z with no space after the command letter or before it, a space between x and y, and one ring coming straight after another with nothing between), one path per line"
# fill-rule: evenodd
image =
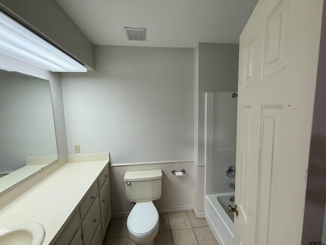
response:
M110 161L108 154L96 157L96 161L83 160L81 155L69 156L69 162L32 185L27 191L15 197L0 209L0 226L15 222L34 221L45 229L43 244L49 244L72 214L85 193L96 181ZM103 159L106 156L106 160ZM78 160L79 162L74 162ZM0 198L6 198L6 195Z

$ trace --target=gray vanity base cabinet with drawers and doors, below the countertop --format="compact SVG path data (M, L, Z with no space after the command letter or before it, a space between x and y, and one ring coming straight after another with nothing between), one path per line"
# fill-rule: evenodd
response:
M55 245L102 244L110 220L111 191L106 166L77 207Z

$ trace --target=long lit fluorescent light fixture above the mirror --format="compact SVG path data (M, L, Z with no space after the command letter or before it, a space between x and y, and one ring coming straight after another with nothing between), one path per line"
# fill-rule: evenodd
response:
M50 71L87 71L85 66L1 11L0 52Z

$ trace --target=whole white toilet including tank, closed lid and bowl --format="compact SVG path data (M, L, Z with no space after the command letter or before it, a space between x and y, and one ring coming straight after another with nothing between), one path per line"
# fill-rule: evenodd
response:
M153 245L159 216L152 201L161 197L162 171L126 171L124 181L127 199L136 203L127 218L129 237L136 244Z

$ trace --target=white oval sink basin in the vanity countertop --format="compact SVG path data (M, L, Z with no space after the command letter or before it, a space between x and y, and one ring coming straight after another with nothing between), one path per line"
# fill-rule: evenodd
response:
M44 227L36 222L18 222L0 229L0 244L41 245Z

